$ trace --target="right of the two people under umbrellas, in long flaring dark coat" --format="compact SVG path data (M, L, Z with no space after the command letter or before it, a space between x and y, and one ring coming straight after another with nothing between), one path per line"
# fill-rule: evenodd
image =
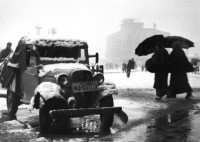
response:
M182 44L180 41L174 42L173 51L170 54L169 71L171 72L170 78L170 94L168 98L176 98L176 94L187 93L186 99L192 97L192 88L188 82L187 72L192 72L194 69L188 61Z

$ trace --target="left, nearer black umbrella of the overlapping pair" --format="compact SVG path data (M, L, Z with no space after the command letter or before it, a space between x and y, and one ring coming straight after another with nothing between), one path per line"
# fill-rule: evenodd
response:
M163 35L154 35L149 38L146 38L135 49L135 54L143 56L154 53L156 50L156 45L158 45L159 42L162 43L162 45L166 44L165 37Z

